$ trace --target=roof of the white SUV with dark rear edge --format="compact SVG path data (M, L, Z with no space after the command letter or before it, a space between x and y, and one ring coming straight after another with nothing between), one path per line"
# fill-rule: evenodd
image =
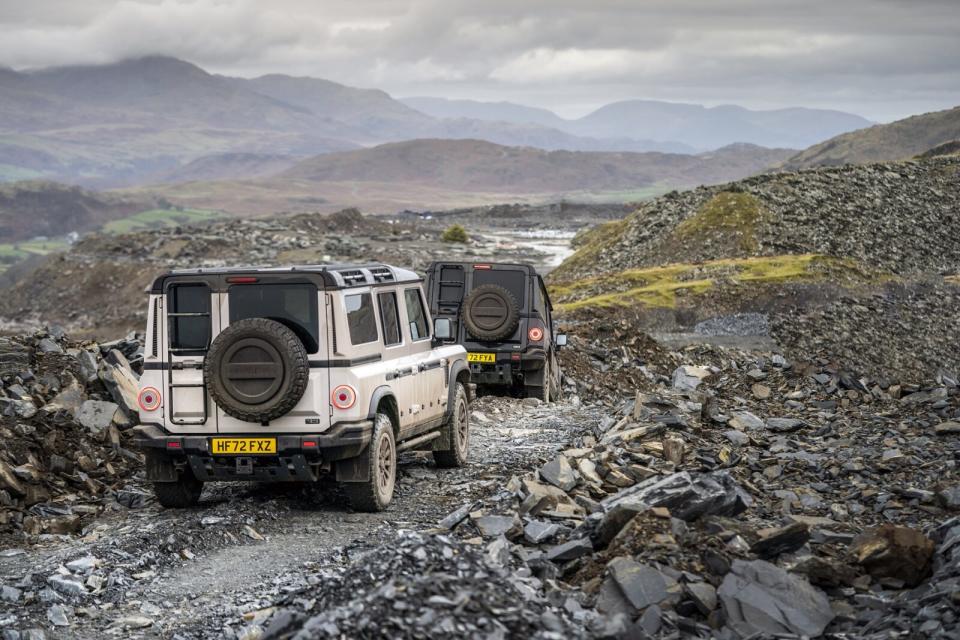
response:
M173 269L157 277L150 287L151 293L162 293L166 281L183 276L232 276L251 274L296 275L315 274L323 280L327 289L363 287L373 284L419 282L420 276L409 269L383 263L369 264L309 264L282 267L212 267L197 269Z

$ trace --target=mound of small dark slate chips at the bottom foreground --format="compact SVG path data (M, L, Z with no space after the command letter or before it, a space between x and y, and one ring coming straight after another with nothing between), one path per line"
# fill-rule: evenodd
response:
M339 571L308 578L274 606L253 612L240 637L585 638L604 622L528 571L506 549L443 535L398 533L395 543Z

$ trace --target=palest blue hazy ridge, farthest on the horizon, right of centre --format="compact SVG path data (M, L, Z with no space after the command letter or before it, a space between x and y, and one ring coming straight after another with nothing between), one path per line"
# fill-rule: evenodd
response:
M403 102L443 118L539 124L600 140L631 139L648 150L687 152L746 142L766 147L807 147L838 133L870 126L860 116L825 109L752 111L736 105L626 100L566 120L547 109L510 102L407 98Z

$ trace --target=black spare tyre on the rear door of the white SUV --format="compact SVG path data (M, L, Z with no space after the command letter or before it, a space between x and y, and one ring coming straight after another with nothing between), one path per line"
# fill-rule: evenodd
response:
M224 413L265 423L300 402L310 381L310 360L291 329L267 318L247 318L214 338L203 376Z

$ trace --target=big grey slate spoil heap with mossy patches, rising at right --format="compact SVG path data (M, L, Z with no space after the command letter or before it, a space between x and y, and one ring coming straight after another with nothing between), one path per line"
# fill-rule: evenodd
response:
M643 204L590 260L569 260L558 274L570 280L669 264L678 256L697 262L805 253L900 275L956 273L960 247L951 239L960 233L953 215L960 207L958 174L960 156L942 156L767 173L674 191ZM724 193L745 196L739 202L757 210L695 220Z

